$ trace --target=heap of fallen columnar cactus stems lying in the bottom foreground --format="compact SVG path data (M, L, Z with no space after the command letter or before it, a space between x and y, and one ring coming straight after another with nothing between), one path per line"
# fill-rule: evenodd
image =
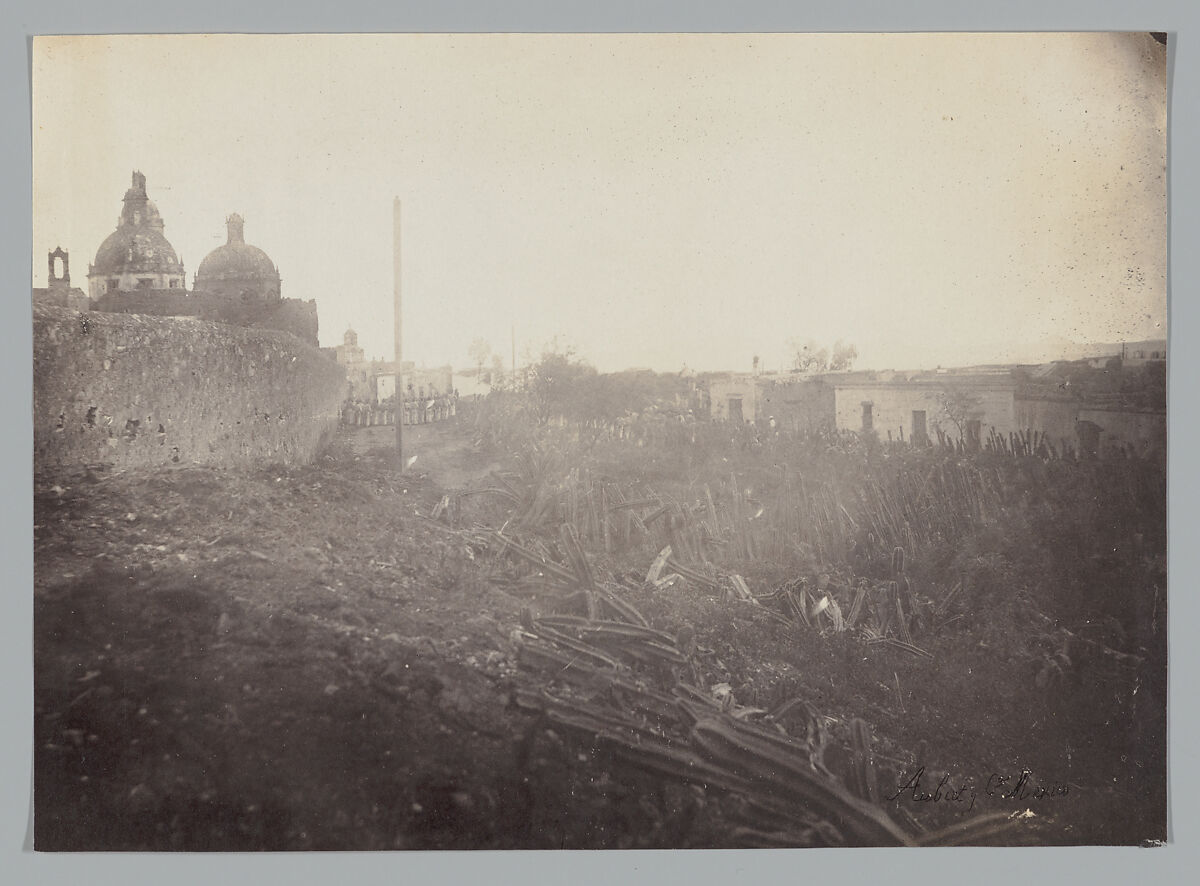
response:
M527 618L518 660L534 688L518 706L559 734L628 766L725 797L742 845L912 846L992 839L1018 827L1013 816L979 816L920 837L878 802L870 726L851 723L845 777L826 768L826 735L803 700L773 712L744 708L724 687L707 693L676 639L628 622ZM694 664L694 663L691 663ZM782 728L800 707L803 735ZM790 720L788 720L790 722Z

